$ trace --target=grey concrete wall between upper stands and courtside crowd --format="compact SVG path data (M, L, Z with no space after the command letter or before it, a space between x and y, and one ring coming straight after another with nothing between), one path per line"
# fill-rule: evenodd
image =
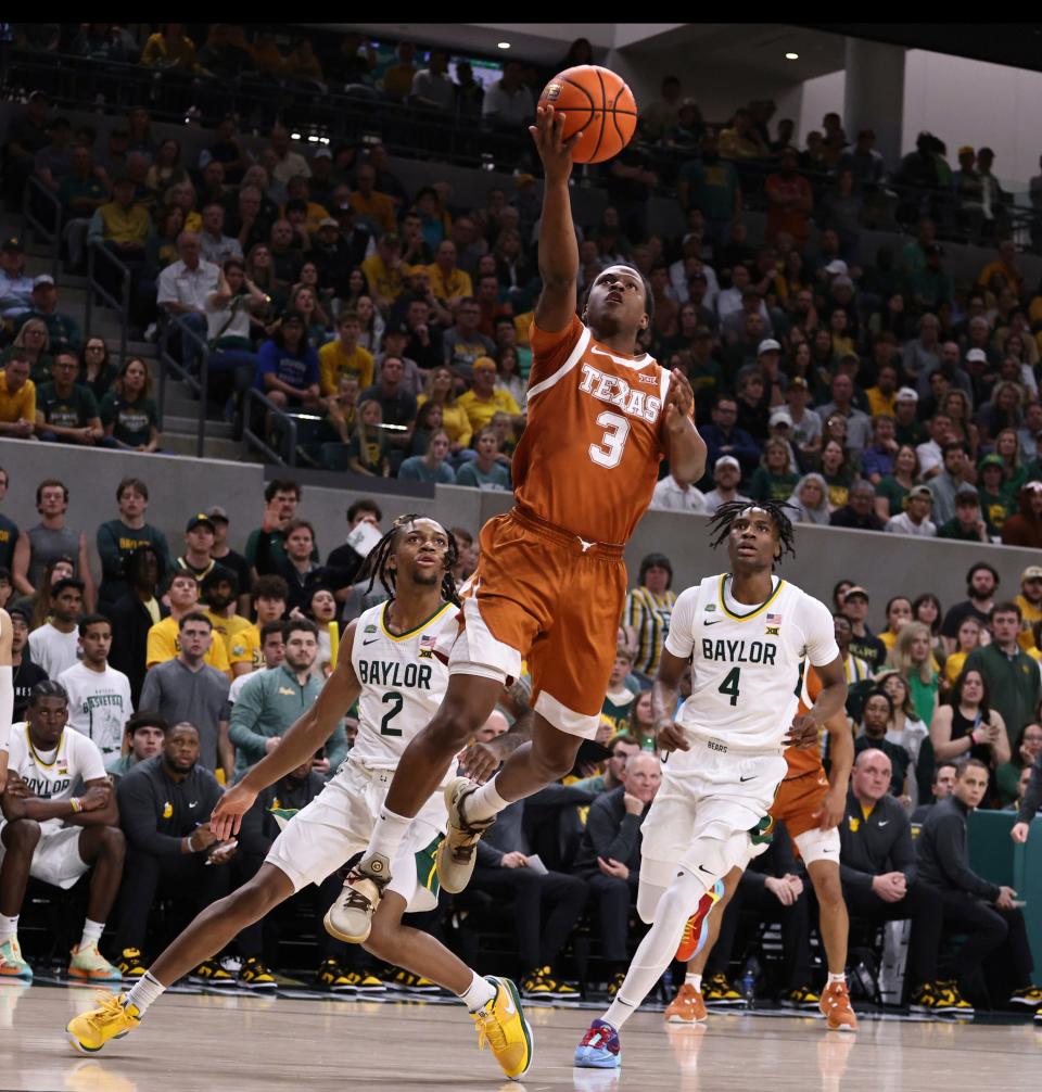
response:
M57 477L70 488L70 526L85 531L93 543L97 526L116 517L117 483L133 474L147 482L152 494L151 522L168 536L171 548L183 542L185 524L194 512L221 505L232 521L229 541L241 549L250 530L258 526L265 479L273 468L174 455L139 455L113 451L83 451L60 444L0 440L0 466L11 479L3 512L19 526L36 520L36 485ZM476 532L490 517L511 505L508 494L481 492L457 486L438 486L437 497L395 491L380 494L369 483L328 484L315 473L299 475L304 496L299 514L315 524L323 554L343 542L347 506L363 496L377 499L384 523L401 512L430 512L448 525ZM419 492L419 490L417 490ZM682 589L707 573L727 567L726 555L709 547L708 520L676 512L648 512L637 526L626 560L636 575L640 558L662 551L673 561L674 587ZM981 547L966 543L924 542L895 535L873 535L830 527L797 527L796 557L786 558L782 574L819 598L829 600L832 585L843 577L857 580L872 593L872 616L881 620L891 595L915 596L934 592L946 606L966 597L966 572L985 558L1002 575L1003 587L1014 594L1019 573L1038 565L1038 551L1005 546Z

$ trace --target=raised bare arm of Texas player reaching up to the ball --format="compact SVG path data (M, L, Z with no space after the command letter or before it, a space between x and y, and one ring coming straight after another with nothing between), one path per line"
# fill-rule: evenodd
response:
M540 330L557 333L576 313L576 285L579 280L579 245L571 219L568 179L571 176L571 150L582 135L563 140L565 116L553 106L536 110L535 124L529 132L543 161L543 217L540 221L540 276L543 292L535 305Z

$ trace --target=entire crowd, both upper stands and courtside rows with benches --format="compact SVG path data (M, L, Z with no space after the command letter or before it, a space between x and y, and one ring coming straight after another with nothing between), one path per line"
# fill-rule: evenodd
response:
M285 57L274 35L247 41L240 32L215 25L197 50L178 24L143 45L88 24L75 49L140 56L164 71L252 67L315 83L374 81L358 36L340 39L332 64L308 41ZM513 127L531 118L542 74L508 63L483 92L463 64L450 79L447 59L434 50L421 68L403 43L378 90ZM569 57L590 59L580 44ZM1007 235L994 157L962 149L959 171L946 171L931 138L886 165L871 131L851 143L833 114L822 130L793 147L792 123L772 128L763 103L718 130L670 78L642 110L640 141L594 179L611 203L578 227L580 292L608 264L641 272L654 305L641 347L688 376L709 447L700 483L663 467L654 507L712 512L736 497L772 498L790 500L807 523L1042 545L1042 287L1028 283ZM5 195L21 207L31 177L56 193L68 266L82 271L90 246L118 257L132 273L132 324L170 325L189 370L205 345L210 397L232 418L270 429L281 446L276 416L249 419L246 391L262 392L273 411L299 413L299 462L509 489L540 292L534 179L521 174L510 192L492 186L478 207L461 207L447 183L410 192L379 144L299 144L276 124L254 154L233 117L211 138L196 162L183 162L179 143L155 139L149 110L138 107L102 146L36 94L9 127ZM753 164L766 164L766 176L750 174ZM675 237L646 226L649 195L667 178L685 224ZM759 245L744 213L754 190L768 210ZM912 234L899 249L867 253L864 228L895 195L898 222ZM938 238L952 232L994 248L972 280L950 272ZM98 254L96 275L109 290L111 274ZM21 237L0 241L0 435L158 450L146 361L111 360L104 340L84 337L63 313L60 289L48 274L25 273ZM350 749L348 715L311 767L258 802L237 848L198 826L222 784L277 746L313 700L332 658L331 625L383 597L379 583L357 582L363 558L352 545L320 553L327 544L296 518L299 499L294 482L270 483L261 525L230 536L241 553L220 507L182 513L183 544L167 543L146 521L149 487L137 477L119 484L118 512L93 538L67 525L68 490L51 479L37 490L36 526L20 531L0 517L0 605L14 625L27 745L60 747L62 728L93 744L99 758L84 765L84 791L61 818L113 832L97 836L87 863L92 901L72 973L108 965L98 943L123 976L143 973L156 954L149 923L159 898L198 909L248 879L276 836L276 814L313 798ZM348 531L382 519L376 502L357 502ZM454 532L462 580L473 571L474 538ZM1029 782L1042 787L1042 773L1033 782L1031 774L1042 755L1042 567L1029 566L1019 589L999 593L982 560L968 573L967 600L947 609L928 590L909 589L880 612L871 575L861 579L840 582L834 595L859 755L842 826L848 901L869 923L881 919L880 903L908 909L910 985L962 978L981 998L976 971L986 964L988 993L1002 1004L1027 985L1022 915L1008 889L980 880L966 860L958 879L945 866L962 852L951 828L968 809L1015 809L1028 821L1039 804ZM638 935L640 824L660 776L649 687L671 583L668 559L646 558L620 620L602 749L573 776L508 809L481 844L471 889L426 923L484 929L501 921L505 903L516 905L517 930L499 939L504 965L520 972L529 996L575 996L568 978L577 976L569 971L582 938L595 943L600 981L616 989ZM867 625L872 610L885 618L878 633ZM524 705L523 684L505 693L486 741ZM31 796L28 786L9 784L0 800L9 822L24 816L21 802ZM946 804L942 815L947 798L958 807ZM892 841L859 840L869 814L876 826L892 814ZM914 845L913 821L929 832ZM754 924L765 905L798 907L804 925L786 936L806 940L816 922L810 887L780 841L757 866L766 895L746 905L760 915ZM8 846L8 862L21 865L0 873L0 958L9 965L33 852L33 844ZM8 882L15 874L21 886ZM311 919L338 885L332 877L306 897ZM103 939L113 907L115 931ZM734 936L748 912L741 917L735 900L729 914L731 939L714 957L709 1004L741 1000L727 954L742 950ZM240 970L208 961L197 981L273 988L265 964L277 965L273 938L287 927L281 917L240 936ZM364 995L389 983L430 992L334 943L320 926L316 933L321 988ZM963 961L938 954L944 937L967 933ZM820 976L809 956L790 950L785 960L758 988L815 1007Z

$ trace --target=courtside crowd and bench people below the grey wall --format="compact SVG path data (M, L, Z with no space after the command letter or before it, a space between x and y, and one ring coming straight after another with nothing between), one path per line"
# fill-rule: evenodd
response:
M0 487L5 491L2 471ZM37 488L39 523L20 530L3 522L0 605L14 626L15 715L26 722L12 746L24 734L22 746L82 778L82 788L70 786L80 795L70 797L68 816L62 804L50 806L57 810L47 817L50 827L43 824L47 839L83 826L108 832L92 835L97 844L81 854L83 871L91 870L90 904L72 976L143 973L171 911L198 910L249 879L277 836L275 817L313 798L350 752L355 710L312 762L262 795L238 846L217 843L205 826L222 786L276 747L315 701L342 631L333 627L387 598L379 582L359 579L363 543L383 522L380 505L354 502L346 541L320 553L311 525L298 518L300 496L295 482L273 480L257 529L230 535L226 513L212 507L192 513L183 542L175 544L147 522L150 490L139 478L119 483L117 514L92 536L67 525L68 490L45 479ZM453 577L462 582L476 565L476 547L465 529L453 533L461 547ZM949 996L945 989L961 996L951 985L958 978L976 999L1002 1005L1008 988L1014 1004L1025 1006L1021 912L1007 889L969 869L964 832L960 842L951 828L961 830L976 807L1016 811L1029 822L1042 804L1042 567L1022 573L1011 598L1002 597L985 561L967 581L967 600L947 609L929 593L896 596L881 613L877 606L885 618L878 633L867 625L871 592L850 580L836 586L836 638L857 756L841 829L842 876L855 919L912 921L913 1004L924 988L929 997ZM614 993L639 937L641 824L661 782L650 686L676 600L672 584L670 559L644 557L620 619L596 739L570 775L504 812L481 843L466 892L421 921L453 942L479 942L481 958L518 973L528 996L575 998L581 983L596 982ZM505 689L478 745L511 738L529 700L525 678ZM26 882L52 875L48 855L34 856L35 835L17 826L34 787L12 775L0 796L11 828L0 865L0 968L22 977L33 973L17 947ZM961 811L948 804L942 812L949 796L962 802ZM884 836L876 820L892 829ZM924 830L914 846L913 822ZM796 1008L817 1004L816 907L783 826L777 836L777 847L754 868L755 890L743 889L726 911L724 939L707 972L708 1004L742 1000L734 964L756 951L756 927L779 916L783 959L773 970L765 963L755 988ZM296 909L248 930L224 962L208 961L193 981L274 988L269 968L282 969L280 936L299 930L301 915L320 921L338 885L334 875L299 897ZM170 900L170 911L157 917L157 905ZM516 928L504 935L507 904ZM939 947L968 929L963 960ZM310 970L319 989L431 988L375 965L362 949L334 943L321 927L315 931ZM599 961L592 970L591 952ZM981 965L986 983L976 974Z

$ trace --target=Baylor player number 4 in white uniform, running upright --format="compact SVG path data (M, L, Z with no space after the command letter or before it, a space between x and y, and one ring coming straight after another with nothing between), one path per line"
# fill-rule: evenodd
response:
M773 574L792 551L784 506L734 501L711 526L726 541L730 572L680 594L652 689L659 746L670 751L662 786L644 820L637 910L651 930L604 1018L576 1048L575 1065L614 1069L619 1029L673 959L692 909L704 915L717 881L770 826L768 809L788 769L786 725L800 743L843 707L846 680L824 604ZM804 660L821 681L797 710ZM691 696L676 720L680 676L691 661Z

